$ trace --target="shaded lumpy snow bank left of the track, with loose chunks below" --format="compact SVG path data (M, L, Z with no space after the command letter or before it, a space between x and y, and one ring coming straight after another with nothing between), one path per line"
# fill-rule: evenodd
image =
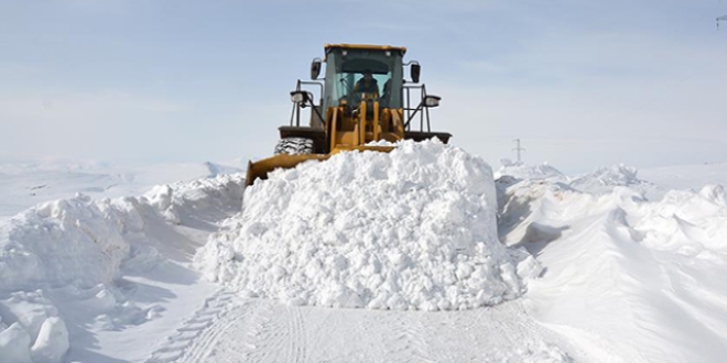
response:
M77 195L0 221L0 361L61 361L67 317L100 330L153 319L159 307L126 301L116 279L163 265L162 250L193 254L170 222L204 228L208 217L239 210L242 190L242 175L219 176L142 197Z

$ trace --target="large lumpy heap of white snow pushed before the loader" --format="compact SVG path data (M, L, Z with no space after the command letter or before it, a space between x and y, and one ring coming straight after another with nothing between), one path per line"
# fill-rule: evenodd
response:
M470 309L518 297L538 273L500 244L496 212L487 163L408 141L272 173L195 263L211 280L294 305Z

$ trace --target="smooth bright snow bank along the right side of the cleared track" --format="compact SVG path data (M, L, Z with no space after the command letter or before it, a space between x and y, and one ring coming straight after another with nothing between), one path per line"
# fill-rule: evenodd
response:
M600 178L598 193L542 180L506 186L502 238L536 253L545 268L528 286L535 317L584 350L578 361L724 356L724 188L674 190L650 201L634 188L636 174L623 174L630 177Z

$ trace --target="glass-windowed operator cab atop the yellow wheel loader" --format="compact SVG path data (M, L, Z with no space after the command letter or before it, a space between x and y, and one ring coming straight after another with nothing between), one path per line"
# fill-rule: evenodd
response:
M326 75L323 109L377 100L382 108L402 108L403 47L326 45ZM364 92L356 85L370 72L376 92Z

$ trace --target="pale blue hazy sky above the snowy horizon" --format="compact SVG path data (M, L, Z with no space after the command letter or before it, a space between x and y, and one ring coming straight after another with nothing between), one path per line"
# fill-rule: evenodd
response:
M272 153L325 43L403 45L493 166L727 162L719 1L0 0L0 160Z

